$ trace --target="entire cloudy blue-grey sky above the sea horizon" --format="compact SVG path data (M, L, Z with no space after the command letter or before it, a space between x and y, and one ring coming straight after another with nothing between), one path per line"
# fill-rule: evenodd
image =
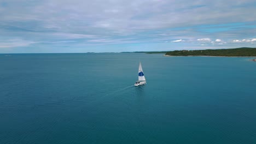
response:
M256 47L255 0L0 0L0 53Z

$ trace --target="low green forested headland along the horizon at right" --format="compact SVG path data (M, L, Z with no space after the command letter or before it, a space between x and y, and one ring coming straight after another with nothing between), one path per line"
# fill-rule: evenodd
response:
M217 50L181 50L168 51L166 56L225 56L225 57L256 57L256 48L241 47L236 49Z

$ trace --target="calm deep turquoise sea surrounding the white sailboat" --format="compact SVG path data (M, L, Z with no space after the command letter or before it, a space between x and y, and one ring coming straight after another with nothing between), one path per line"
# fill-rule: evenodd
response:
M256 143L249 59L1 54L0 143Z

